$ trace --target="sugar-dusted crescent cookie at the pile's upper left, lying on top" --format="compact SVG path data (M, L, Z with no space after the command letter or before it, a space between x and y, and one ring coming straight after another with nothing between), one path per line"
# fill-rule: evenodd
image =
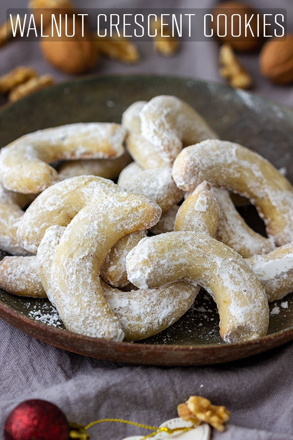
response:
M115 123L68 124L25 134L0 150L6 189L38 194L59 180L50 163L62 159L105 159L125 153L126 130Z

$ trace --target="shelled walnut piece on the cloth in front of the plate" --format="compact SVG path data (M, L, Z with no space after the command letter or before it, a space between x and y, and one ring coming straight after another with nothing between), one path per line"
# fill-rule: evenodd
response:
M202 396L190 396L185 403L178 405L177 411L183 420L194 425L201 422L209 423L221 432L225 430L224 423L230 418L230 411L225 406L213 405L209 399Z

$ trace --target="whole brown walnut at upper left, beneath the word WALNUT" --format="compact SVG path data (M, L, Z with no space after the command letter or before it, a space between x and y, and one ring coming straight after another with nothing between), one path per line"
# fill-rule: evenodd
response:
M73 34L73 24L74 18L67 17L68 35ZM62 20L62 26L65 26L65 18ZM45 29L44 34L50 35L50 32L51 26ZM68 74L79 75L91 70L96 66L99 58L89 32L84 26L84 37L82 37L82 23L76 18L73 37L43 37L41 49L50 64Z

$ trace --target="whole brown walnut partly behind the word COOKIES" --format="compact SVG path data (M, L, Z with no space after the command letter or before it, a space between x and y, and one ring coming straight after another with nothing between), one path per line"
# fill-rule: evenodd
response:
M217 28L217 16L219 14L225 14L227 17L227 35L225 37L219 37L217 35L217 34L224 35L226 31L224 17L219 18L219 28ZM233 25L234 25L233 33L234 35L238 35L239 32L241 31L240 37L232 36L231 18L233 14L239 14L241 17L240 29L239 29L239 22L237 20L233 21ZM247 37L244 37L245 14L247 14L248 17L251 17L251 15L254 14L250 22L254 36L248 35ZM257 37L257 11L251 8L251 6L249 6L248 4L242 3L240 1L223 1L213 9L212 15L213 15L212 30L215 38L217 38L222 43L229 43L230 46L233 47L233 49L236 50L237 52L253 51L259 48L260 45L262 44L263 38ZM263 22L260 20L259 35L262 34L263 34Z

